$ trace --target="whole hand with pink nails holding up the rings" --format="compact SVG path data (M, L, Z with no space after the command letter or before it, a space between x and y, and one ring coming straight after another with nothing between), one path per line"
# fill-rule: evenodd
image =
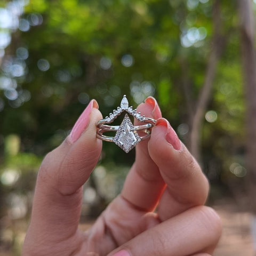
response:
M92 100L70 135L47 154L38 173L23 256L206 256L221 233L218 215L205 203L209 185L154 98L138 111L157 120L136 158L121 195L90 230L78 229L82 186L98 162L102 118ZM157 206L157 211L154 212Z

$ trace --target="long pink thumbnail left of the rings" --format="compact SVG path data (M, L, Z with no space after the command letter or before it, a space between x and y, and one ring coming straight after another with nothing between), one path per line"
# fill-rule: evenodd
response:
M77 119L72 131L69 134L69 142L71 144L76 142L83 133L83 131L86 129L86 126L90 120L92 108L99 108L99 105L96 100L91 100L88 106L81 114L81 116L79 116L79 118Z

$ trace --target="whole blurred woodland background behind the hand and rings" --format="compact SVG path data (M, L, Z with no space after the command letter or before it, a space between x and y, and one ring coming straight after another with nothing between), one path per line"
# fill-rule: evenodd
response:
M107 116L124 94L134 107L153 95L210 180L223 220L214 255L254 255L254 11L251 0L0 0L0 255L20 255L44 155L92 98ZM133 160L103 143L82 228Z

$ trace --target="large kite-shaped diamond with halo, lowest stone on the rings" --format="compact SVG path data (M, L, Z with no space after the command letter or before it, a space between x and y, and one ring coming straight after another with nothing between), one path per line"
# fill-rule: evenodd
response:
M129 116L125 114L122 124L116 132L114 142L126 153L140 142L139 134L136 132Z

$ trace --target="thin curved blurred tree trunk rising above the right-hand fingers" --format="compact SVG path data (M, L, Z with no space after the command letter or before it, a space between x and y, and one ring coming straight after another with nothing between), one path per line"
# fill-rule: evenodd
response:
M215 0L213 4L213 40L212 40L212 51L210 53L209 62L206 68L205 81L198 97L198 103L195 109L195 114L191 123L190 132L190 143L189 148L191 153L201 162L201 138L200 134L202 132L202 125L204 121L204 115L207 105L211 99L212 87L214 76L217 68L217 63L220 58L223 44L224 36L221 35L221 13L220 13L220 0Z

